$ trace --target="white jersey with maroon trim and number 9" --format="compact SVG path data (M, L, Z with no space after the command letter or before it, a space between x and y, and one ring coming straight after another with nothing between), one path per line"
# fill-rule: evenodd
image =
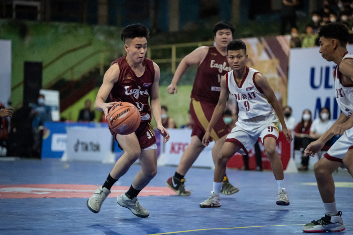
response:
M233 71L226 74L227 88L234 95L239 106L239 120L246 120L258 116L268 116L274 113L272 105L266 95L255 83L255 74L259 73L253 68L246 67L246 74L240 86L234 80Z

